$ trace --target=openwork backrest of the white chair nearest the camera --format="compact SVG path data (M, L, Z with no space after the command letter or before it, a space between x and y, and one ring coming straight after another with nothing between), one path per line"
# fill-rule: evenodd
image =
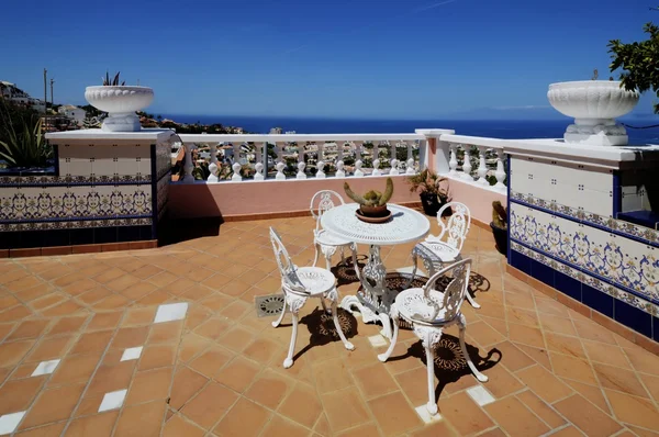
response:
M449 283L443 289L436 287L438 279L444 278L448 273L451 273ZM461 261L455 262L440 271L433 274L431 279L423 287L423 295L428 305L434 306L434 314L431 320L437 318L437 314L444 310L442 318L446 321L453 320L460 311L460 306L467 296L469 289L469 278L471 276L471 258L462 259ZM444 293L444 300L437 302L431 296L431 290L437 290Z

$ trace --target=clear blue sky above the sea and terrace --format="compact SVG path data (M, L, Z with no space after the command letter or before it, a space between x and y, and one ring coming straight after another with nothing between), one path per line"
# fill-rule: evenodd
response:
M83 104L121 70L167 114L432 119L546 111L550 82L607 78L644 38L626 0L4 0L0 80ZM649 112L651 96L638 111ZM524 109L532 107L530 109ZM537 108L536 108L537 107ZM518 109L518 110L517 110ZM513 112L511 112L513 113ZM551 113L548 111L548 113Z

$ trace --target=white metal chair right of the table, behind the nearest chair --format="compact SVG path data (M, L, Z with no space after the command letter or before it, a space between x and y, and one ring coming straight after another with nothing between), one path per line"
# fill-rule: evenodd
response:
M451 209L453 214L445 224L442 216L449 208ZM439 235L428 235L424 242L417 243L412 249L412 262L414 264L414 268L412 270L412 279L407 283L407 287L412 284L412 281L414 281L414 277L416 276L418 258L422 259L428 277L435 274L435 272L445 265L462 259L460 251L462 250L462 245L467 239L467 234L471 226L471 214L467 205L460 202L449 202L445 204L439 212L437 212L437 223L440 228ZM480 309L480 305L471 298L471 294L467 293L467 300L471 306Z

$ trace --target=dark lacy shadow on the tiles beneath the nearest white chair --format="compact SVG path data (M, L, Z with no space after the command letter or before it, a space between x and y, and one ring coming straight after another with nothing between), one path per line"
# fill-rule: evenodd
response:
M469 328L469 327L468 327ZM401 328L402 329L402 328ZM480 351L477 347L467 345L467 354L471 358L471 361L476 366L479 371L484 371L496 366L501 359L503 358L503 354L496 348L490 349L484 357L480 356ZM498 355L498 359L493 360L492 356ZM416 341L412 346L407 348L405 355L401 355L398 357L390 357L388 361L398 361L402 359L407 359L410 357L418 358L424 366L427 366L427 360L425 356L425 348L423 347L421 340ZM460 348L460 340L449 334L443 334L439 343L435 347L435 377L439 383L435 389L435 402L439 400L442 392L446 388L447 384L457 382L462 377L476 378L471 373L469 366L467 365L467 360L462 355L462 349Z

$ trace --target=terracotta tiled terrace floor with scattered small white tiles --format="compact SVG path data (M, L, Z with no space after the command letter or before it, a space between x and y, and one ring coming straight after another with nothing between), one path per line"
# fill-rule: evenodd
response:
M479 384L456 359L457 330L448 329L436 368L440 421L424 425L415 411L426 402L426 376L409 330L393 355L401 358L380 363L386 344L369 340L378 326L343 313L356 346L347 351L319 334L310 301L299 355L284 370L290 324L272 328L254 305L280 283L268 226L297 264L313 259L313 222L289 218L227 223L220 236L158 249L2 260L0 434L15 423L19 436L31 437L659 429L659 357L505 274L492 235L476 226L465 254L483 282L476 292L482 309L462 309L470 354L490 381ZM406 266L410 249L383 249L388 267ZM354 293L346 269L336 272L340 293ZM188 304L183 318L154 323L159 305L171 303ZM474 397L482 396L493 402L480 406Z

